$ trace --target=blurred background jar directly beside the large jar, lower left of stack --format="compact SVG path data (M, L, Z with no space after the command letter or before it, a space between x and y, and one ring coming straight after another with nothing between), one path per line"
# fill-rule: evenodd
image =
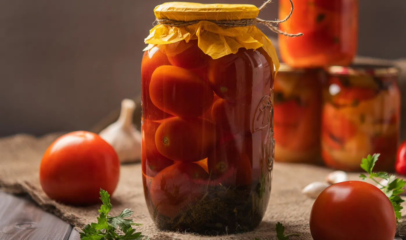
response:
M281 64L274 86L275 160L320 160L322 69Z

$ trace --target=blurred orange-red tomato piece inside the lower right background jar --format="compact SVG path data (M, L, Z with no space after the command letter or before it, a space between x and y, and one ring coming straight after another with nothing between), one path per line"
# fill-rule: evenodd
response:
M324 104L322 112L322 132L328 132L341 143L346 142L356 134L357 127L333 105Z

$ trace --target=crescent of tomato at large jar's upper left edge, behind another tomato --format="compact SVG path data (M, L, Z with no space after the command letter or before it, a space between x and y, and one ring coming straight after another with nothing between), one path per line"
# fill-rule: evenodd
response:
M141 63L141 100L145 119L160 120L171 115L157 108L149 97L149 83L153 71L162 65L171 65L168 58L157 47L153 47L144 53Z

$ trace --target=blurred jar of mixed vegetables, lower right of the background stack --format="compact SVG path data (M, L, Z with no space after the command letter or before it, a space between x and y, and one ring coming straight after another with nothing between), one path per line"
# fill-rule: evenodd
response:
M330 67L322 110L322 158L343 171L380 154L374 170L394 168L400 127L398 70L391 66Z

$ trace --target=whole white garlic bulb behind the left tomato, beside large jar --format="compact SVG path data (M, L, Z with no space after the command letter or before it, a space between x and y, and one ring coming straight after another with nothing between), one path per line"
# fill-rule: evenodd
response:
M119 119L99 133L116 150L122 163L141 160L142 137L132 123L135 107L133 100L123 99Z

